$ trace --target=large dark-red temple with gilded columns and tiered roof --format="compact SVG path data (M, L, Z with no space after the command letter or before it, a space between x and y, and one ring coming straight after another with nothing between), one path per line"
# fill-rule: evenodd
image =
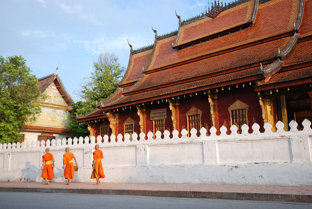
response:
M300 129L311 120L312 1L218 1L207 10L185 21L176 14L178 30L153 29L150 46L129 44L118 89L77 121L104 136L211 126L230 133L232 124L240 133L244 123L252 132L255 122L279 120Z

